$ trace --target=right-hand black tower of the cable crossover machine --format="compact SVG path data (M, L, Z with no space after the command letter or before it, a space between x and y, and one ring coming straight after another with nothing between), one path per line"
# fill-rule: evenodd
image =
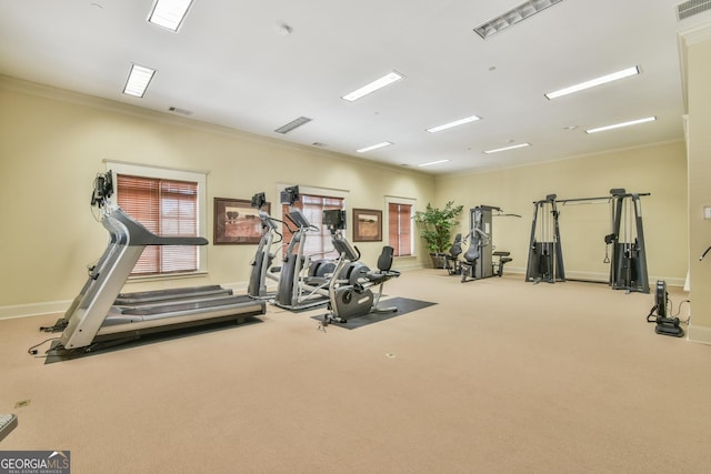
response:
M610 262L610 286L649 293L647 273L647 251L642 226L642 203L640 195L624 189L610 190L612 195L612 233L604 241L612 245Z

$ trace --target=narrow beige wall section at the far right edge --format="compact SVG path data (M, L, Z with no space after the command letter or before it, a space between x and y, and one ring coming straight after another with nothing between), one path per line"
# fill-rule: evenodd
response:
M689 250L691 324L689 339L711 344L711 255L699 261L711 245L711 27L688 37L687 92L689 99Z

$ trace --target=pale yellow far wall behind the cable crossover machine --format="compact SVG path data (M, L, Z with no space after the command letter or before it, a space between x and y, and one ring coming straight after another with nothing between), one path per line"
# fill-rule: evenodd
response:
M681 120L681 118L679 119ZM437 179L439 203L454 200L469 210L487 204L522 219L495 218L493 243L513 256L510 270L525 272L533 201L604 196L613 188L651 193L641 198L651 285L654 279L682 285L687 275L687 162L683 142L661 143L530 167ZM568 278L608 280L604 235L610 205L560 205L560 234ZM539 214L539 219L541 215ZM469 215L462 219L469 226ZM651 300L650 300L651 302Z

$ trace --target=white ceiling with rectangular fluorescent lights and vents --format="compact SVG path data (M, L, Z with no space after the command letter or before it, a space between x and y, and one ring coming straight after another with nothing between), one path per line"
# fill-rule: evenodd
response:
M147 22L152 0L2 1L0 74L435 174L683 138L677 33L711 12L679 21L678 0L563 0L487 40L473 31L521 2L194 0L173 33ZM131 63L158 71L143 98L122 93ZM391 71L405 78L341 99ZM472 114L482 120L425 131ZM274 132L299 117L312 121ZM393 144L356 152L382 141Z

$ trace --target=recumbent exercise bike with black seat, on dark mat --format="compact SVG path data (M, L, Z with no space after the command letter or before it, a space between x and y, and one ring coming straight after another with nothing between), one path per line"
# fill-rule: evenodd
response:
M346 229L346 211L323 211L323 223L331 231L331 241L339 252L339 261L334 275L329 284L329 310L323 316L323 325L329 323L347 323L351 317L360 317L370 313L393 313L398 309L379 307L384 283L400 276L400 272L391 270L393 248L385 245L378 258L378 271L371 271L359 262L358 248L343 236ZM378 286L378 293L371 288Z

